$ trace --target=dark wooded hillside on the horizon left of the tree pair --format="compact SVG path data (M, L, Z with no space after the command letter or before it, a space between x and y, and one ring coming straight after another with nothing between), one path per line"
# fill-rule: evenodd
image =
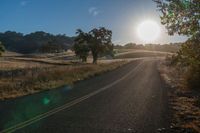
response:
M53 35L37 31L24 35L14 31L0 33L0 41L6 50L18 53L55 53L72 47L74 37Z

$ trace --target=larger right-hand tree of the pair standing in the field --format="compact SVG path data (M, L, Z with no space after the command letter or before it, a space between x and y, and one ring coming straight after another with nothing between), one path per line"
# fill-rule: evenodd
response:
M106 50L110 49L112 44L112 31L108 30L104 27L100 27L99 29L93 29L88 33L88 44L93 56L93 63L97 63L97 59L99 54L104 53Z

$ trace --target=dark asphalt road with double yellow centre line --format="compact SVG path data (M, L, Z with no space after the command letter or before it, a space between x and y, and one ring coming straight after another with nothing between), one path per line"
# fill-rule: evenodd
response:
M0 129L17 133L155 133L168 128L167 88L158 62L133 61L68 89L0 102ZM37 105L41 99L43 104Z

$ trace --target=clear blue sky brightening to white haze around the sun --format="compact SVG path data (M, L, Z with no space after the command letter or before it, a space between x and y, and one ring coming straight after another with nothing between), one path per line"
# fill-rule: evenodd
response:
M138 25L153 20L161 27L152 43L183 42L187 37L168 36L160 24L159 12L152 0L1 0L0 32L28 34L45 31L74 36L76 29L88 32L106 27L113 32L115 44L145 43L136 32Z

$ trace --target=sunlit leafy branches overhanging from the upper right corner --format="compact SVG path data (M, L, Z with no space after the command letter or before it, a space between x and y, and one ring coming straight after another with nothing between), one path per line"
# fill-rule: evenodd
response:
M161 23L168 33L199 38L200 1L199 0L153 0L161 14Z

